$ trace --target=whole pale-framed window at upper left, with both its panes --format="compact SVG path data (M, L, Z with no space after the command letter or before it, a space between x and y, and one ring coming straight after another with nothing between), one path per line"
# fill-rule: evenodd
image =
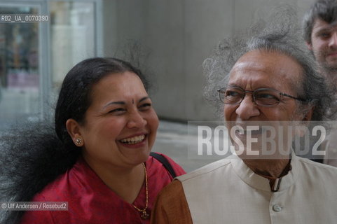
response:
M0 131L53 116L66 73L97 55L97 2L0 1L0 14L49 15L43 25L0 23Z

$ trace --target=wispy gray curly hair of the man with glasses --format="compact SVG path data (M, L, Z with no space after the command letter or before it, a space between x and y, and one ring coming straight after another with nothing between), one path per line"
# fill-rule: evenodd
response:
M312 120L324 120L333 116L332 113L327 113L332 94L328 91L324 78L317 73L312 55L302 45L301 33L294 21L297 21L294 10L278 10L273 15L273 20L268 20L268 26L261 20L247 33L224 39L216 46L213 55L205 59L203 69L207 80L204 95L208 102L216 106L217 116L223 118L223 104L216 90L226 87L235 62L252 50L280 52L295 59L303 68L303 79L292 85L297 91L297 97L306 99L306 102L298 102L299 111L304 114L308 108L314 108Z

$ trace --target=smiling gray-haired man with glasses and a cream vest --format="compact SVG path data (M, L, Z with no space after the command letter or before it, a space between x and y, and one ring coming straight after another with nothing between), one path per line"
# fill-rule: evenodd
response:
M322 120L329 95L300 42L289 30L235 38L204 62L206 96L219 103L228 127ZM231 141L247 135L236 132ZM152 223L337 222L336 167L293 152L254 156L231 155L178 177L158 195Z

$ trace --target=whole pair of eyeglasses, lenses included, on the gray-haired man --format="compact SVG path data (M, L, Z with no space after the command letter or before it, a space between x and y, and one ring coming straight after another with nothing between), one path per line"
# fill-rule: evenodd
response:
M245 98L247 92L251 92L253 96L253 102L259 106L275 106L282 102L283 97L289 97L301 102L305 102L305 99L293 97L289 94L285 94L278 90L259 88L254 91L242 90L240 87L223 87L218 90L221 102L224 104L240 104Z

